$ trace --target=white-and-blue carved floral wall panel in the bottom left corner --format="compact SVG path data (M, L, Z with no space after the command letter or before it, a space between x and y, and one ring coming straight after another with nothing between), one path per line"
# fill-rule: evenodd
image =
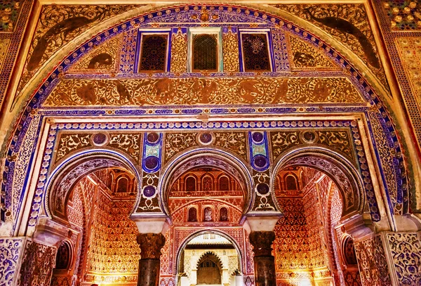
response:
M22 238L0 238L0 280L5 286L13 285L23 242Z

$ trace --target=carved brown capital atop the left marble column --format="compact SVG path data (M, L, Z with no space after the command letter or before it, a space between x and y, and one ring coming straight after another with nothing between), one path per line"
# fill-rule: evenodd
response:
M141 259L159 259L161 249L165 245L165 237L162 233L139 233L138 244Z

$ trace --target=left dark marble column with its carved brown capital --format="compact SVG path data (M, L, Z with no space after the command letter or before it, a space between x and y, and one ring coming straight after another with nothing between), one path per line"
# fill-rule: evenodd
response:
M158 286L161 249L165 245L162 233L139 233L140 260L138 286Z

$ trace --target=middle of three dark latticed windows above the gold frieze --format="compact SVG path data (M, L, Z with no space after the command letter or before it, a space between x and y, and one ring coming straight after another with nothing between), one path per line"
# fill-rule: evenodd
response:
M193 71L218 71L218 41L216 34L193 36Z

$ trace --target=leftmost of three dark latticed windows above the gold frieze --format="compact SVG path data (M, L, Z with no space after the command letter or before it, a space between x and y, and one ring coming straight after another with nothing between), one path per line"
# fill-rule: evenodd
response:
M165 72L168 35L144 34L139 61L139 71Z

